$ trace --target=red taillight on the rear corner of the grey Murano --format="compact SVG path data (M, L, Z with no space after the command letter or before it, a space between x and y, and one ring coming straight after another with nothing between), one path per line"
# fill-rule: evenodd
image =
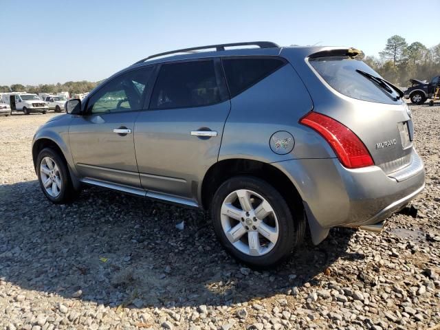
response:
M373 158L358 135L337 120L321 113L309 112L300 119L300 123L320 133L345 167L360 168L374 165Z

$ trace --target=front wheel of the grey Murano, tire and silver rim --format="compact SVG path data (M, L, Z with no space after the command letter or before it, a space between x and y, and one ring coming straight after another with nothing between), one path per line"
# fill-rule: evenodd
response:
M56 165L52 166L53 169L48 163L49 159L52 159ZM52 170L52 173L47 174L47 169ZM36 158L36 173L39 177L41 190L43 190L44 195L47 199L52 201L52 203L67 203L78 195L78 191L74 190L65 159L54 151L54 149L43 148L43 150L40 151ZM52 177L54 180L51 179L48 188L45 188L43 181L47 180L47 177Z

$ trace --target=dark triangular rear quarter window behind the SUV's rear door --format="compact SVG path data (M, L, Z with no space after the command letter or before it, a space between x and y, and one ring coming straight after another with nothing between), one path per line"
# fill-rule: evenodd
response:
M285 64L285 61L278 58L227 58L222 61L231 98Z

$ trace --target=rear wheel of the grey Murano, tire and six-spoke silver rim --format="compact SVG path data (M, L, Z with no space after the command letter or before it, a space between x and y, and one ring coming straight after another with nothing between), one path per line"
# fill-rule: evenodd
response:
M248 201L251 204L248 208L251 211L248 213L243 211L238 198L238 195L243 195L243 192L250 197ZM234 194L236 194L236 198ZM267 202L264 208L272 209L272 212L265 211L269 215L253 217L261 214L260 212L254 213L254 210L259 210L259 206L263 205L262 201ZM228 210L227 206L234 207L232 210L236 212L234 213L235 219L225 215L225 211ZM237 209L240 213L237 213ZM237 214L240 215L237 216ZM214 231L225 250L239 261L257 269L281 263L292 254L294 248L303 240L305 234L304 213L295 212L295 214L294 218L292 210L278 190L266 181L250 176L232 177L225 181L215 192L211 203ZM268 227L270 230L267 230ZM232 228L239 229L230 230ZM231 232L237 238L241 235L241 238L234 241ZM266 239L261 232L272 232L270 235L272 239ZM274 239L275 232L276 239ZM252 246L258 247L257 249L250 248L249 240L252 237L254 237L252 241L258 242L256 245L252 244Z

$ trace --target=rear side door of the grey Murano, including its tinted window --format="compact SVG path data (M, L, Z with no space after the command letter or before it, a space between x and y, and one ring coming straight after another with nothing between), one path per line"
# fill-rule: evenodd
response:
M218 58L159 68L149 109L135 122L137 166L149 195L197 195L206 170L217 162L229 111Z

